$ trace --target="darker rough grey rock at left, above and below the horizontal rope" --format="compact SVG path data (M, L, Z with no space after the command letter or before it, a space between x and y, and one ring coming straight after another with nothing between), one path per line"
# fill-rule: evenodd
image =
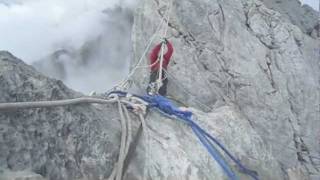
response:
M3 51L0 52L0 94L0 102L57 100L81 95ZM18 174L31 170L48 179L108 176L120 138L118 115L112 109L112 105L79 105L1 112L0 168ZM5 179L6 174L2 177L0 173L0 179Z

